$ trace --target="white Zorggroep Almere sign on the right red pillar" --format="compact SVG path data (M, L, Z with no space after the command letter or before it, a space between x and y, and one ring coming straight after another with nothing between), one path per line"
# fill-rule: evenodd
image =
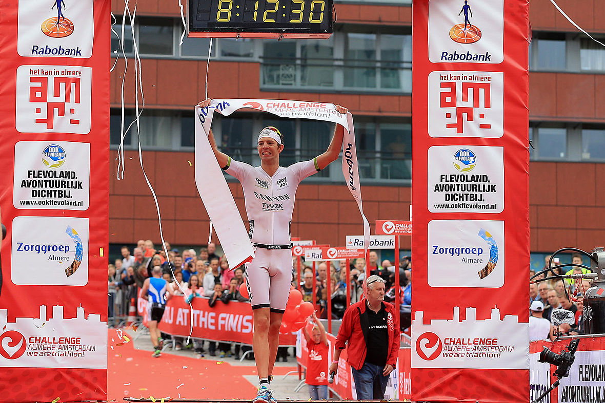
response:
M428 224L428 284L499 288L504 250L503 221L433 220Z

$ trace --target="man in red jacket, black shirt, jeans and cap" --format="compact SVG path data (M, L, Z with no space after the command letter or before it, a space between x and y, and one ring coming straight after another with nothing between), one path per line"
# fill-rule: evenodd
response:
M384 399L388 375L397 362L399 313L384 301L384 290L382 277L368 277L365 298L347 308L336 337L329 372L336 373L341 351L346 347L359 400Z

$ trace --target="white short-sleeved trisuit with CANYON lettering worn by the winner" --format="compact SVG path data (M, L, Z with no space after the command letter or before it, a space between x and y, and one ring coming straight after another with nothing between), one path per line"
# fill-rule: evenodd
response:
M319 172L317 158L279 167L273 176L261 167L231 158L223 169L237 178L244 190L249 236L255 246L255 257L246 268L252 309L270 308L283 313L292 283L290 224L294 198L302 179Z

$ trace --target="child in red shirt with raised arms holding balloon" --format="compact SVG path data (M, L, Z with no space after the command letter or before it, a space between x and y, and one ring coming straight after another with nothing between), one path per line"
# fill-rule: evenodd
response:
M311 400L328 398L328 338L325 336L324 325L318 320L313 312L315 326L311 335L307 327L302 328L302 333L307 340L307 376L305 382L309 385Z

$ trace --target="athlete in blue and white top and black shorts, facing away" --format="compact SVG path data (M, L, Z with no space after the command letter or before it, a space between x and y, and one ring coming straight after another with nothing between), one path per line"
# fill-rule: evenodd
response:
M162 320L164 309L166 308L166 300L171 297L171 294L166 292L166 285L168 285L168 282L162 279L162 268L160 266L154 266L151 274L153 277L149 277L143 282L141 297L145 298L145 295L147 295L149 301L147 303L147 324L149 327L149 335L151 336L151 343L155 349L151 356L159 357L162 355L163 341L162 334L160 329L157 328L157 324Z

